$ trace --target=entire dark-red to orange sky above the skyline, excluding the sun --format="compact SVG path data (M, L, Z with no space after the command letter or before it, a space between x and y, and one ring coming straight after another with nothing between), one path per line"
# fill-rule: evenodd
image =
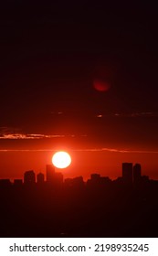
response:
M67 150L64 176L158 178L153 4L5 1L0 19L0 177Z

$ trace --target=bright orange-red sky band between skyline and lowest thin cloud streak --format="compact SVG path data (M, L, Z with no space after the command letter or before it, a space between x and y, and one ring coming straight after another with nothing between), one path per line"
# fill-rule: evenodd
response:
M68 168L57 171L64 178L83 176L88 179L91 173L110 176L111 179L121 176L121 163L132 162L142 165L142 175L158 179L158 153L110 152L109 150L69 150L72 163ZM1 178L23 178L25 171L33 169L43 172L47 164L51 164L54 151L6 151L0 152Z

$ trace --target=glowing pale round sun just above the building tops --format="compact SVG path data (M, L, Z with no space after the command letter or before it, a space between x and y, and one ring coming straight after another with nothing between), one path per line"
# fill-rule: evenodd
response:
M71 163L71 157L65 151L58 151L52 157L52 164L60 169L68 167L70 163Z

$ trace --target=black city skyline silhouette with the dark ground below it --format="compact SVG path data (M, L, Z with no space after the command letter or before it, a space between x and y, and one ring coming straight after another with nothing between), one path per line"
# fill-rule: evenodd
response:
M121 176L63 179L53 165L24 180L0 179L0 237L157 237L158 180L140 164L122 163Z

